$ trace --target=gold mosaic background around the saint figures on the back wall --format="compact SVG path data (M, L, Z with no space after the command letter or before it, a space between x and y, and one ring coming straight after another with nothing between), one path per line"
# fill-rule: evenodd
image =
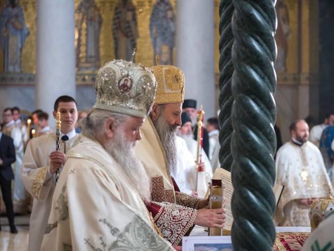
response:
M218 73L219 59L219 0L215 1L215 71ZM309 19L309 7L311 0L303 0L302 21L307 23ZM0 1L0 9L3 8L5 1ZM80 0L75 0L77 7ZM132 0L136 7L138 33L136 61L146 66L153 65L153 48L149 32L149 20L152 7L156 0ZM99 50L101 66L105 62L114 58L114 45L112 37L112 19L114 8L118 0L95 0L97 7L102 16L102 27L99 38ZM174 12L176 13L176 0L171 0ZM289 25L291 34L288 38L288 54L286 59L287 73L298 73L298 1L285 0L289 12ZM35 73L35 56L36 56L36 0L20 0L23 9L26 25L30 30L22 50L22 69L24 73ZM302 27L302 73L309 72L309 28L308 25ZM175 50L174 50L175 55ZM173 57L175 58L175 56ZM3 52L0 50L0 69L3 69Z

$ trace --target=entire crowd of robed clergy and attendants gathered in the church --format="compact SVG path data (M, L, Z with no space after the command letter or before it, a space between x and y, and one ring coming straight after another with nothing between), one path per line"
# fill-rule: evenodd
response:
M219 121L207 119L197 142L198 107L184 100L186 86L175 66L113 60L97 73L89 111L78 112L70 96L54 101L60 136L48 113L6 108L0 210L11 233L14 214L27 211L30 251L181 250L195 225L222 228L225 210L209 209L205 198L221 168ZM310 135L305 120L291 123L275 156L284 185L276 226L310 226L309 206L333 192L333 123L326 115Z

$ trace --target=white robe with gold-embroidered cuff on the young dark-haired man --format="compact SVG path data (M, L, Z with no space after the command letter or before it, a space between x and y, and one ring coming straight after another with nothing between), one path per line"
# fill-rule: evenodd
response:
M66 141L66 151L72 147L77 138L78 134ZM29 140L25 150L20 175L25 189L34 197L29 224L29 251L40 250L48 221L55 187L55 175L50 173L49 155L55 149L55 135L47 134ZM62 142L60 151L64 152Z

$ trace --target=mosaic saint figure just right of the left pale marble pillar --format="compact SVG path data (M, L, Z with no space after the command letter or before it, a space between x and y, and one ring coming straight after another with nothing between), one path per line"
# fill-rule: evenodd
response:
M96 71L100 66L99 35L102 17L94 0L81 0L76 10L76 60L78 71Z

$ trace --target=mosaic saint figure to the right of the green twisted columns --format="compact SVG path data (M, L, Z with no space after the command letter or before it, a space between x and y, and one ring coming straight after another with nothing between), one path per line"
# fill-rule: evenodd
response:
M286 72L286 57L288 54L288 38L290 36L289 10L284 0L276 4L278 26L275 35L277 42L277 59L275 69L277 72Z

